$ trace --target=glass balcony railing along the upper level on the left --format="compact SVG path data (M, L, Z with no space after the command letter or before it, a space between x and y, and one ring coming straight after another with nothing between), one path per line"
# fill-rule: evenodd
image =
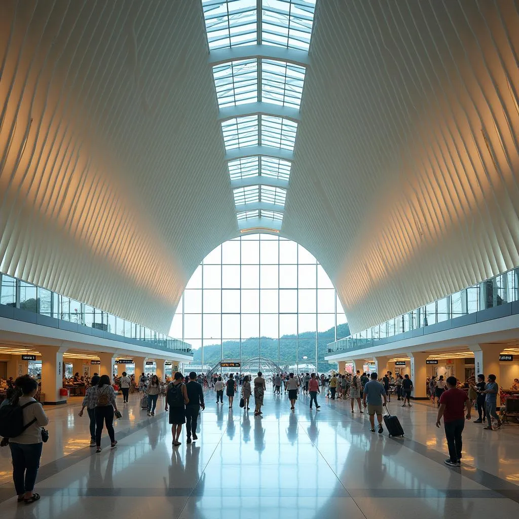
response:
M71 297L0 274L0 317L192 355L191 345Z

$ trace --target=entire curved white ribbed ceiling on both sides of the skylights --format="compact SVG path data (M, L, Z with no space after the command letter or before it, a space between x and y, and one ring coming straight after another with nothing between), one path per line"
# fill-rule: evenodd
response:
M238 234L218 52L194 0L0 2L0 270L167 333ZM519 265L518 56L507 0L318 0L281 235L352 331Z

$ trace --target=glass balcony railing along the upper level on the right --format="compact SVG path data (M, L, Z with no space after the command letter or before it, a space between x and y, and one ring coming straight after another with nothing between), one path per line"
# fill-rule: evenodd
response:
M519 314L519 268L336 340L328 353L361 350Z

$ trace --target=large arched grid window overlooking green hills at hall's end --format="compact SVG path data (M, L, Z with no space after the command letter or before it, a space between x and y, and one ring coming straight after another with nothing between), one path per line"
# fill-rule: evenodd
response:
M327 372L326 345L349 335L330 278L294 241L245 235L218 245L187 283L171 334L206 371L221 359L264 357Z

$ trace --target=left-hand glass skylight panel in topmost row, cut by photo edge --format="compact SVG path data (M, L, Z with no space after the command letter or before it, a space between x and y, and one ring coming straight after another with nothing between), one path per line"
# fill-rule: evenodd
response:
M257 43L256 0L202 0L209 50Z

